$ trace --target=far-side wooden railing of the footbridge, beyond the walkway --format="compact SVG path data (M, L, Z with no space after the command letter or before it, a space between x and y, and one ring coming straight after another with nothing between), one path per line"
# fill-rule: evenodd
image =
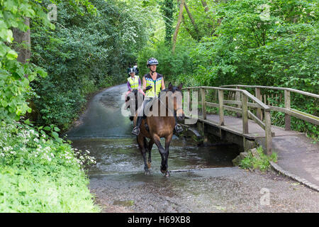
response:
M297 89L291 89L287 87L267 87L267 86L254 86L254 85L240 85L240 84L232 84L232 85L224 85L220 87L236 87L237 89L243 88L243 89L254 89L255 90L255 96L257 99L262 101L263 96L264 96L264 103L266 104L268 101L268 106L270 109L273 111L278 111L282 112L285 114L285 130L290 131L291 130L291 116L294 116L296 118L302 119L304 121L307 121L309 123L313 123L315 125L319 125L319 117L318 116L313 116L312 114L308 114L303 111L298 111L296 109L291 108L291 93L296 93L296 94L302 94L304 96L308 97L313 97L318 101L319 95L318 94L313 94L310 92L303 92ZM264 95L262 95L261 91L262 90L278 90L278 91L284 91L284 108L279 107L279 106L274 106L275 103L271 103L270 100L272 100L269 95L266 95L264 92ZM272 97L273 98L273 97ZM276 97L278 98L278 97ZM281 94L279 96L279 99L281 99ZM257 118L262 120L262 113L261 109L257 109Z

